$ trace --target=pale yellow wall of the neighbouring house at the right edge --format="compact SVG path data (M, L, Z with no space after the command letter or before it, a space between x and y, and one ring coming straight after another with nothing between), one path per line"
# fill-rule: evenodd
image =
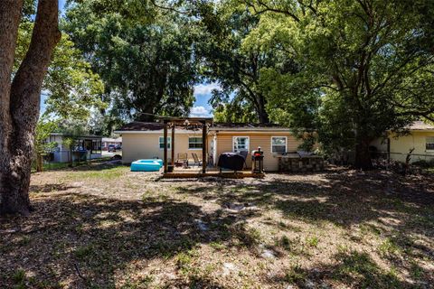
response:
M390 149L391 159L398 162L405 162L407 154L410 149L414 148L411 156L411 162L420 160L430 161L434 160L434 151L426 150L427 137L434 137L434 131L412 131L410 135L403 135L395 137L391 135ZM381 152L387 152L387 144L382 144L381 139L377 139L372 143ZM417 155L420 154L420 155Z

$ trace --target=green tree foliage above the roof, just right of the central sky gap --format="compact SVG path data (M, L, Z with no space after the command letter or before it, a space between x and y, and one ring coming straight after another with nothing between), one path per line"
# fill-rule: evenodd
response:
M226 122L269 122L267 99L259 85L261 69L273 66L276 50L243 47L245 37L259 23L259 16L233 1L199 5L202 38L197 43L201 74L218 82L221 90L212 93L210 103L219 120Z

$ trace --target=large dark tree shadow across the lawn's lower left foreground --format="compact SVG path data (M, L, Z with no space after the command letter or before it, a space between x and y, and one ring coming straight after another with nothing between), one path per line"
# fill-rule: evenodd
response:
M201 244L248 247L252 239L239 219L224 211L204 212L178 200L110 200L64 192L33 205L31 218L0 219L5 258L0 284L5 287L16 284L14 275L22 269L30 287L68 281L73 288L114 288L115 275L137 262L144 263L143 269ZM192 284L208 282L203 275L194 278Z

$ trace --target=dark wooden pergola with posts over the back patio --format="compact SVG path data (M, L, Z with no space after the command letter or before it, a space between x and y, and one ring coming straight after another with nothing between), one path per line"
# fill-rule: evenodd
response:
M207 160L206 160L206 150L207 150L207 135L208 135L208 125L212 125L212 117L158 117L160 121L164 124L164 164L165 173L168 172L168 162L167 162L167 130L172 128L171 136L171 164L175 166L175 127L185 126L186 128L199 129L202 128L202 172L206 172Z

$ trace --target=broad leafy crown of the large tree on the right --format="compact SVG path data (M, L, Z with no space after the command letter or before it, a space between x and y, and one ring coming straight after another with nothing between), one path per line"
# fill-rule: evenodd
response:
M429 2L247 4L261 16L243 47L278 47L297 68L262 70L260 85L275 120L283 115L290 126L316 129L329 150L355 147L357 164L366 167L373 138L420 117L434 119ZM429 16L422 7L431 8Z

